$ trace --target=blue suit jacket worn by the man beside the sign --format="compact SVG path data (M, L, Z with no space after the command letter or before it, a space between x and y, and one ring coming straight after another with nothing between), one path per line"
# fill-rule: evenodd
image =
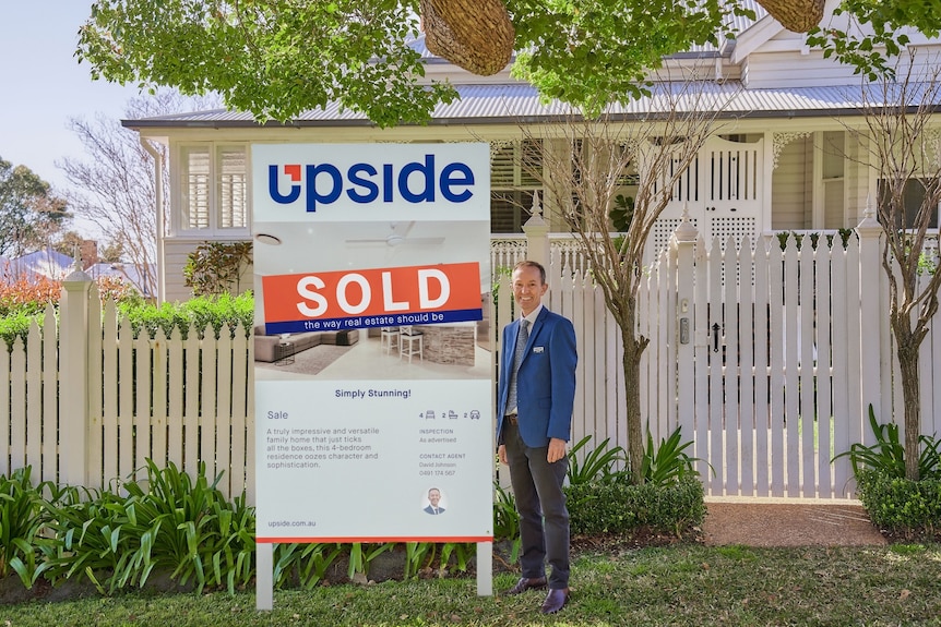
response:
M503 328L500 382L497 394L497 443L502 442L513 347L520 319ZM529 340L516 373L516 408L520 435L529 448L549 445L549 438L569 441L575 402L575 328L572 323L545 306L529 329Z

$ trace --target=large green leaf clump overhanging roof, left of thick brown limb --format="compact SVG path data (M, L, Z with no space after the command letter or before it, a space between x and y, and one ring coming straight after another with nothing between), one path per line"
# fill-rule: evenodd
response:
M382 125L427 118L452 87L419 84L416 3L99 0L78 56L118 83L217 92L259 120L288 120L331 100Z

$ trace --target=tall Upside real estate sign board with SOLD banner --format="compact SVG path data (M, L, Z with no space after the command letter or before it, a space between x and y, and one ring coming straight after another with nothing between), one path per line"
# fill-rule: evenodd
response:
M258 542L489 542L488 146L251 159Z

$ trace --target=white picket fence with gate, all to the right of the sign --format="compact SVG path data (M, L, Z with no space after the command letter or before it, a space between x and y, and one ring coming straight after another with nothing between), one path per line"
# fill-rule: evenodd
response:
M874 442L870 403L880 422L902 422L879 232L860 229L846 249L838 238L815 250L793 238L785 250L777 238L674 242L647 268L644 420L657 442L677 426L693 441L707 494L854 497L849 460L833 457ZM627 449L620 329L592 274L571 269L570 249L549 250L545 302L573 321L579 341L573 442L591 435ZM526 249L500 253L495 267ZM497 275L500 328L513 313L509 278ZM941 327L932 322L920 361L928 435L941 434Z

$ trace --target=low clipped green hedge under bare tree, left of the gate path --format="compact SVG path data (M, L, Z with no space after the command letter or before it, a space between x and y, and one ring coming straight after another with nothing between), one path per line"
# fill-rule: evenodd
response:
M633 485L627 477L570 485L569 518L572 533L636 531L682 538L705 519L702 483L687 475L672 483Z

